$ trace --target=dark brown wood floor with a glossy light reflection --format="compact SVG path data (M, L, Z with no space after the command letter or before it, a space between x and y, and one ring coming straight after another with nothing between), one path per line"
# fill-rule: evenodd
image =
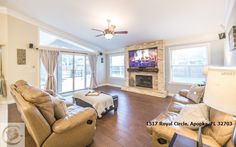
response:
M150 147L151 138L146 131L147 121L155 118L167 109L171 98L157 98L119 88L104 86L98 88L119 96L117 113L109 112L97 120L97 130L91 147ZM22 122L16 106L9 106L9 122ZM26 133L26 147L35 144Z

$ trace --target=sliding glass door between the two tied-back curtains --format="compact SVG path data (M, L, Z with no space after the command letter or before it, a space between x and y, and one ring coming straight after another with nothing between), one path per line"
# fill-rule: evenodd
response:
M89 86L90 67L83 54L62 53L57 68L58 92L66 93Z

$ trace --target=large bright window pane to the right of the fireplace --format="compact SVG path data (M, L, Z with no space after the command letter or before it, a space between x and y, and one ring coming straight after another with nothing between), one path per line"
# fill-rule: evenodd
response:
M209 45L170 48L170 82L202 83L203 68L208 64Z

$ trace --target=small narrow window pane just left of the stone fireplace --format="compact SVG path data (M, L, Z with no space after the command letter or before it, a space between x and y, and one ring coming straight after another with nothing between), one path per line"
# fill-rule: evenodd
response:
M124 56L110 56L110 77L124 78Z

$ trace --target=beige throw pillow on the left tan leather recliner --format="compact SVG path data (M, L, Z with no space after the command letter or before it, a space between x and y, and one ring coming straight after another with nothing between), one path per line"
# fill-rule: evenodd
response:
M58 120L65 117L67 109L65 102L57 97L52 97L52 102L54 104L55 118Z

